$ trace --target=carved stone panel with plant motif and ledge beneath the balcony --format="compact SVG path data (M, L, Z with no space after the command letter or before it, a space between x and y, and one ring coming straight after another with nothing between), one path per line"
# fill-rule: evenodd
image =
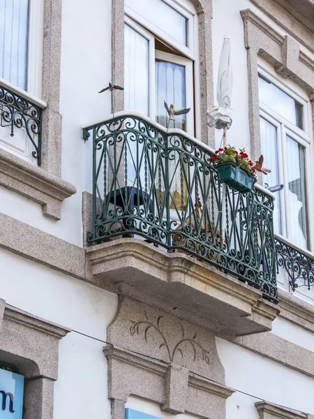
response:
M124 418L123 404L131 394L174 414L225 416L225 399L234 390L224 385L215 336L208 330L120 297L107 339L112 419Z

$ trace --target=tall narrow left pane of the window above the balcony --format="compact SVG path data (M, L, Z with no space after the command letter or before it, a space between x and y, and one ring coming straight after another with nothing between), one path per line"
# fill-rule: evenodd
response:
M149 41L124 25L124 108L148 115Z

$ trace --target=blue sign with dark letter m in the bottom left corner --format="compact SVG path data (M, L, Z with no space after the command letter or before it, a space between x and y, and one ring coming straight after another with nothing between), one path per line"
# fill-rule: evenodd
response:
M24 376L0 369L0 418L22 419Z

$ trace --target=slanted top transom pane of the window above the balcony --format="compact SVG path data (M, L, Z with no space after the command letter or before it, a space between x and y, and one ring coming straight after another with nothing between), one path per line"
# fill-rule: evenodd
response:
M125 4L179 43L188 45L186 17L162 0L125 0Z

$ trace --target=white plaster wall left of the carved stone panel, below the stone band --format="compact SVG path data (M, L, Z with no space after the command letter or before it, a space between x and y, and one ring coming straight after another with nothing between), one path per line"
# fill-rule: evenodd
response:
M0 250L0 297L8 304L106 340L117 295ZM59 344L54 418L110 417L103 344L70 332Z

